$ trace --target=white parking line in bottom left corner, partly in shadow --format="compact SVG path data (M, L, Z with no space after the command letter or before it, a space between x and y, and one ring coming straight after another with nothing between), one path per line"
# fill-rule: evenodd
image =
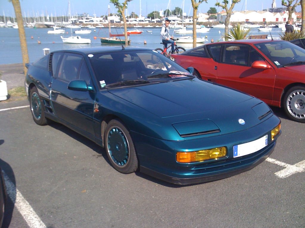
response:
M9 198L15 203L15 207L22 215L23 219L27 222L27 225L31 228L47 228L47 226L41 221L36 212L30 206L30 204L23 198L21 193L18 191L13 182L9 179L9 177L2 171L6 191L9 195ZM16 194L15 194L16 193Z

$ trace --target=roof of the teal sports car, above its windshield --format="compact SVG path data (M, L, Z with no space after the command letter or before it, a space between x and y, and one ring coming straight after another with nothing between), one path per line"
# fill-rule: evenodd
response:
M65 49L65 50L56 50L54 52L74 52L80 54L95 54L95 53L103 53L103 52L117 52L117 51L134 51L134 50L150 50L147 48L140 48L140 47L124 47L122 46L115 46L115 47L82 47L82 48L75 48L75 49Z

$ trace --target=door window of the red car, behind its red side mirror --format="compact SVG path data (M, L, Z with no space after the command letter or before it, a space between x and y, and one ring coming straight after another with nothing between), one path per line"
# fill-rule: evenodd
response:
M224 45L222 56L223 63L248 66L249 46L248 45Z

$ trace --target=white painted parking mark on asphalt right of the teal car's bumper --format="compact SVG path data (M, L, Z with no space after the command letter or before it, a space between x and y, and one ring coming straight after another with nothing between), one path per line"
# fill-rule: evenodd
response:
M275 159L273 159L271 157L268 157L266 159L266 161L269 161L269 162L271 162L273 164L277 164L277 165L285 167L285 169L274 173L279 178L286 178L286 177L291 176L292 174L301 173L301 172L305 171L305 160L300 161L300 162L298 162L298 163L296 163L294 165L290 165L290 164L287 164L285 162L275 160Z

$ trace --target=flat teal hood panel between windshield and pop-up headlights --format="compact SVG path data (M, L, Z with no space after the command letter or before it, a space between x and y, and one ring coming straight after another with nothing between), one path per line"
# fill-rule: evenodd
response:
M160 118L224 109L252 98L199 79L112 89L109 92Z

